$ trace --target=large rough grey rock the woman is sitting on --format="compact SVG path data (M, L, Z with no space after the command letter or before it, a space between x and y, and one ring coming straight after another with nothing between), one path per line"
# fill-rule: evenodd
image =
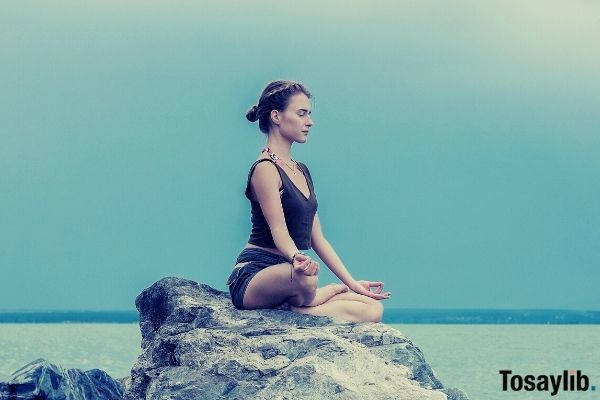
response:
M228 293L168 277L136 299L142 354L125 399L467 399L382 323L237 310Z

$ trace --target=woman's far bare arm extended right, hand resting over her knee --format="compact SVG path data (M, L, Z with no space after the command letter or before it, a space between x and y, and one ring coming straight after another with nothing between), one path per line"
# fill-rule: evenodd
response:
M337 255L329 241L325 239L323 231L321 230L321 221L319 221L319 215L317 213L315 213L313 221L311 243L315 253L317 253L319 258L323 260L327 267L329 267L331 272L340 278L340 280L354 292L377 300L389 298L391 293L386 292L381 294L383 282L356 281L352 275L350 275L350 272L348 272L348 269L346 269L346 266L342 260L340 260L340 257ZM378 287L379 289L376 292L371 292L370 287Z

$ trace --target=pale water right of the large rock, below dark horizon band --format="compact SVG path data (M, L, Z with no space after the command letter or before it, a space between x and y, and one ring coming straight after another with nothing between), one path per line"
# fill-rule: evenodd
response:
M407 335L448 387L472 400L600 399L600 392L502 392L498 371L558 375L580 369L600 386L600 325L391 324Z

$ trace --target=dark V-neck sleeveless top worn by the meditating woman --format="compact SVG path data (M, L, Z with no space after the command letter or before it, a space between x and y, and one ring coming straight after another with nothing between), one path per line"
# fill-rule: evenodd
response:
M313 187L312 178L308 168L303 163L296 161L300 170L306 178L308 188L310 189L310 195L308 198L298 189L298 187L292 182L287 176L285 171L281 169L270 158L263 158L257 160L248 173L248 182L246 183L246 197L250 200L252 206L252 232L248 238L248 243L256 246L276 248L273 236L269 224L263 215L260 203L252 195L252 189L250 188L250 179L256 165L262 161L272 162L277 168L279 176L281 176L282 186L279 188L279 195L281 197L281 205L283 207L283 214L285 216L285 224L287 225L288 232L296 247L300 250L307 250L311 248L310 234L312 231L312 224L315 213L317 212L317 196Z

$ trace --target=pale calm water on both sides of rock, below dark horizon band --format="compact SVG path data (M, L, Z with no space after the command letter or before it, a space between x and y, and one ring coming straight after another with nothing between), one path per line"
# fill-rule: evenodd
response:
M391 324L425 354L448 387L475 399L594 399L600 392L502 392L500 369L521 375L580 369L600 386L599 325ZM140 353L137 324L0 324L0 381L38 357L120 378ZM596 394L597 393L597 394Z

